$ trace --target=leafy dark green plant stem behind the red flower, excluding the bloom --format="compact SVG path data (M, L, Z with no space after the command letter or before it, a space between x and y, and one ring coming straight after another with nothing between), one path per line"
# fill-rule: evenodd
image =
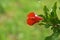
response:
M57 2L53 5L51 10L47 8L45 5L44 8L44 15L39 15L42 17L44 20L39 23L39 25L44 25L45 28L51 27L51 30L53 30L52 35L48 36L45 38L45 40L58 40L57 37L60 34L60 20L57 16Z

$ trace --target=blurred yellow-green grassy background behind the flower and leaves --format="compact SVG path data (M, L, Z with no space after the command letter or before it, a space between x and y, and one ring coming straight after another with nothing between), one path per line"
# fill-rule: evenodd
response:
M44 5L51 9L56 1L60 18L60 0L0 0L0 40L44 40L52 30L37 24L29 26L27 14L43 14Z

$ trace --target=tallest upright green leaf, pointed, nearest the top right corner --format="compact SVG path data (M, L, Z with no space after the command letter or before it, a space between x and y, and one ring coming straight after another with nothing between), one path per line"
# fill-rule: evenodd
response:
M57 16L56 10L57 10L57 2L55 2L55 4L53 5L52 11L50 14L50 20L51 20L51 23L53 24L58 23L58 16Z

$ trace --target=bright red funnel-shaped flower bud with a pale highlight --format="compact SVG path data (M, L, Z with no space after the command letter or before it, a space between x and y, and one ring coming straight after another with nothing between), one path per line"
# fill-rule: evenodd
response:
M34 12L30 12L27 16L27 24L28 25L33 25L33 24L39 22L40 20L43 20L43 18L37 16Z

